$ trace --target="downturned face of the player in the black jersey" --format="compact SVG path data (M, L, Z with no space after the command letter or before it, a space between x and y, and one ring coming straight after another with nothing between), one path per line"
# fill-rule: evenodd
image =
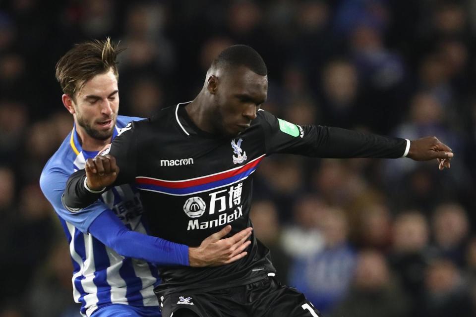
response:
M229 70L221 78L216 94L217 129L231 137L244 132L267 96L268 76L246 67Z

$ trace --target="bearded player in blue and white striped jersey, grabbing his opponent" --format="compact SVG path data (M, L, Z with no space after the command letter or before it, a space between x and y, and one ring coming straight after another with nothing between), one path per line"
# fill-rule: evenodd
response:
M160 283L157 264L216 266L234 262L246 255L243 250L250 243L246 239L251 228L224 238L231 231L227 226L195 248L149 236L138 190L131 185L111 188L86 209L63 207L61 195L69 175L83 169L86 159L94 158L129 122L141 120L117 115L119 52L107 39L77 45L59 60L56 76L74 126L47 162L40 185L69 242L73 296L81 304L81 314L160 316L153 292Z

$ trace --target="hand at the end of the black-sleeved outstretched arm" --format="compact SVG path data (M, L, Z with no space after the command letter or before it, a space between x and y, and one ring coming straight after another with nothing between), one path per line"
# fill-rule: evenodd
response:
M454 154L451 149L440 142L436 137L425 137L410 141L410 150L407 157L415 160L438 160L440 170L450 168L450 161Z

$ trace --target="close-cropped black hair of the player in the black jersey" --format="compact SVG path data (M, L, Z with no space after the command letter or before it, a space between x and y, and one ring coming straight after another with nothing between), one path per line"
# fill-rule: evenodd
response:
M253 48L247 45L233 45L225 49L218 55L212 63L212 67L223 66L246 66L254 73L265 76L268 69L263 57Z

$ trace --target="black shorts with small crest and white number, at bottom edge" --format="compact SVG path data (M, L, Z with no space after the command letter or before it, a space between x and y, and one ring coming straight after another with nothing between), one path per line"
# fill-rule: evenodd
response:
M172 293L160 300L163 317L179 309L200 317L322 317L302 293L274 277L220 290Z

